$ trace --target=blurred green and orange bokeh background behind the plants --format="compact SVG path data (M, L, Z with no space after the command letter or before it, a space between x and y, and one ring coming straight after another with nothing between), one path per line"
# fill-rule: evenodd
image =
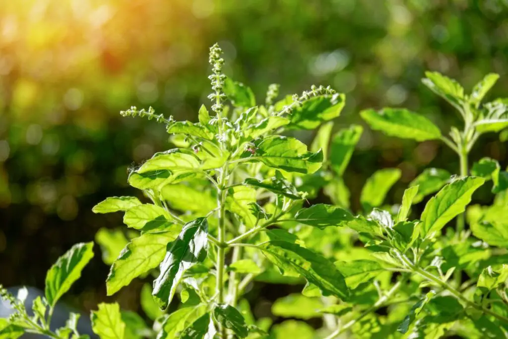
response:
M126 182L129 166L171 145L161 125L118 111L153 106L197 120L208 104L214 42L225 51L227 75L261 101L273 82L282 94L311 84L345 93L335 129L362 124L361 109L404 106L448 132L458 116L421 84L425 70L466 90L496 72L489 98L508 91L506 0L1 1L0 283L43 288L46 270L72 244L121 224L120 213L96 215L91 207L136 194ZM312 133L299 137L308 142ZM482 137L471 158L483 156L505 167L506 144ZM398 202L428 166L456 172L458 161L438 142L366 128L345 174L353 207L376 169L402 169L388 198ZM107 273L96 246L66 300L82 310L107 300ZM138 310L142 284L115 296L123 308ZM257 298L269 304L288 289L262 288Z

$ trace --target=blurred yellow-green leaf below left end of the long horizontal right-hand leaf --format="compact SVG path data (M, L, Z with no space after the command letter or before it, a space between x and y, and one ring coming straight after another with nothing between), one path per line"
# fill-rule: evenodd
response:
M398 168L386 168L378 170L367 179L360 194L360 202L363 209L369 211L373 207L380 206L395 182L400 178L401 170Z

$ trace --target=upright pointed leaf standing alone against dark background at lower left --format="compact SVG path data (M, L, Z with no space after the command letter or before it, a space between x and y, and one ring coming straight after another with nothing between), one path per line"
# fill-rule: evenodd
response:
M91 258L93 258L93 242L81 242L72 246L51 266L46 274L45 289L46 299L50 306L54 306L56 301L69 291Z

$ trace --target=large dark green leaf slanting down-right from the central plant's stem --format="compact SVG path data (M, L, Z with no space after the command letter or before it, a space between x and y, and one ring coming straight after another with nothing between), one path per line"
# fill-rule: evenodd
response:
M341 299L347 299L349 296L344 276L331 261L321 255L285 241L265 242L260 244L259 248L282 273L298 272L325 294L333 294Z

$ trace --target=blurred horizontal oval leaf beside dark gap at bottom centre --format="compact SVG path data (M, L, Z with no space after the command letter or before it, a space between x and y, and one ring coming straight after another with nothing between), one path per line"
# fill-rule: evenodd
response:
M320 298L309 298L301 294L290 294L275 300L272 304L272 314L284 318L298 318L308 320L320 317L317 311L324 307Z

